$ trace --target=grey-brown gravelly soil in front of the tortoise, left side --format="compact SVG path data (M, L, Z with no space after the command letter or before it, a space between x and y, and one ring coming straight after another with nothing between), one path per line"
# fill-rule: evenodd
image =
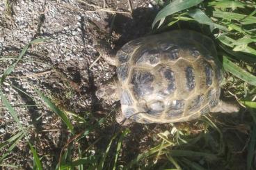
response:
M56 161L53 155L65 144L67 132L61 119L42 105L35 89L65 110L81 116L85 112L105 116L107 112L95 98L95 90L113 76L115 69L101 58L97 60L99 54L93 37L110 40L119 48L150 33L156 12L155 3L150 0L131 1L131 6L128 1L118 0L0 2L1 75L31 40L46 39L29 48L3 86L38 155L45 155L44 167L49 169ZM4 142L17 133L18 127L3 104L0 105L0 142ZM3 153L6 151L0 151L0 155ZM23 139L4 163L29 169L32 159Z

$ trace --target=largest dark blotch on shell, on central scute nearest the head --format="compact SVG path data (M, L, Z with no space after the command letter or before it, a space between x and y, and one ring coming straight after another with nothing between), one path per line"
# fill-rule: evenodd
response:
M131 84L134 85L134 93L139 97L152 94L154 76L146 71L134 71L131 76Z

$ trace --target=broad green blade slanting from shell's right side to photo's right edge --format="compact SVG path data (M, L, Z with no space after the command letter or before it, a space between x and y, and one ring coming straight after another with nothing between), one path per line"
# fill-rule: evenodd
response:
M223 67L226 71L237 76L241 80L244 80L246 83L256 85L256 76L253 76L253 74L250 74L246 70L235 65L232 61L227 59L227 56L223 56Z

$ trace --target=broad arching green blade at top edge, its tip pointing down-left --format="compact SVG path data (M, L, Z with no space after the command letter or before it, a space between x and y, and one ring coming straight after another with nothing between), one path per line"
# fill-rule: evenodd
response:
M201 3L203 0L175 0L170 2L167 6L165 6L162 10L160 10L157 14L157 16L154 18L154 22L152 24L152 28L156 26L157 22L163 21L167 16L172 15L176 12L179 12L181 10L186 10L187 8L191 8L192 6L196 6L199 3ZM161 22L162 24L163 22ZM161 26L159 24L159 26ZM158 26L158 27L159 27Z

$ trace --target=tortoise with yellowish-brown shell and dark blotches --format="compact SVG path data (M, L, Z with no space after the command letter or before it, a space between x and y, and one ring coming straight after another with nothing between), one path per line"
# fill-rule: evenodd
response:
M238 112L220 100L223 70L213 40L175 30L131 40L116 53L97 42L97 51L116 66L118 78L102 85L99 99L118 101L118 123L174 123L208 112ZM128 122L128 123L127 123Z

